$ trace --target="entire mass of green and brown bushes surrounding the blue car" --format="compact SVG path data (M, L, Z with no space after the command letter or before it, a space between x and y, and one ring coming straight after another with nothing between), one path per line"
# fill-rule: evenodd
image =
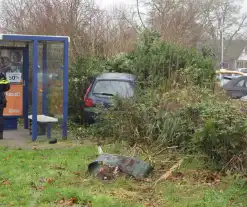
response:
M102 122L92 126L94 135L125 140L153 155L176 147L183 153L205 155L210 167L243 170L245 115L239 103L214 93L210 51L198 53L145 31L130 54L79 60L71 70L71 103L82 100L74 92L88 86L87 77L104 71L135 74L137 91L131 100L115 100Z

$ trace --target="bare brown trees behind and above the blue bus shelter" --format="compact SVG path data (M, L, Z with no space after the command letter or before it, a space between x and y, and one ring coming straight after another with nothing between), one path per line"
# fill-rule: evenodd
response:
M3 0L0 23L4 32L68 35L72 57L110 56L132 50L136 38L132 14L114 12L93 0Z

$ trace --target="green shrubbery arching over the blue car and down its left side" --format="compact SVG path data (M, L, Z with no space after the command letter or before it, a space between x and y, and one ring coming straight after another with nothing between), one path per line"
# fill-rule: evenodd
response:
M181 71L194 84L211 86L214 81L210 54L164 42L150 31L140 34L134 52L121 53L108 60L98 57L78 58L69 72L69 114L80 118L82 96L88 87L88 78L103 72L132 73L142 89L158 87L174 71Z

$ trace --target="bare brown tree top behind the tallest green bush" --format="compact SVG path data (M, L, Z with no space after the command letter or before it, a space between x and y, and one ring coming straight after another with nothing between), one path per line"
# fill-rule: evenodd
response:
M194 46L203 35L202 0L149 0L148 23L164 40Z

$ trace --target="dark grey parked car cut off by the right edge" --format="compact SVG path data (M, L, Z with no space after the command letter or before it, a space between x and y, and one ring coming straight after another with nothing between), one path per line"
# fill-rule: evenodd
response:
M245 79L240 79L228 90L228 94L234 98L239 99L247 95L247 82Z

